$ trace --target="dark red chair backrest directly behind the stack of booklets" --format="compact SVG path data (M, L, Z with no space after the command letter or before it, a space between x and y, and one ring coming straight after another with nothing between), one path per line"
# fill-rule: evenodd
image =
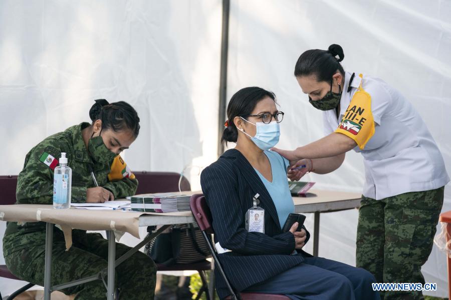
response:
M180 174L175 172L133 172L139 181L137 194L178 191ZM188 179L182 176L181 190L191 190Z

